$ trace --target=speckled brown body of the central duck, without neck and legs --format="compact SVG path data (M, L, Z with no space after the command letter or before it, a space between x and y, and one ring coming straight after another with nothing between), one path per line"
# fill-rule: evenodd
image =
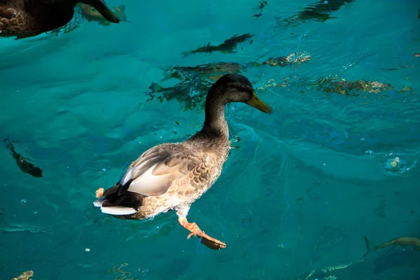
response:
M109 197L102 208L115 204L132 207L136 209L134 214L118 215L130 220L153 218L171 209L188 214L190 204L218 179L230 150L228 134L221 138L212 133L207 135L214 141L205 141L204 137L202 141L198 136L182 143L150 148L132 162L116 186L106 190L104 195ZM148 169L153 169L153 174L147 174ZM152 181L157 181L154 186ZM125 188L130 190L125 192Z

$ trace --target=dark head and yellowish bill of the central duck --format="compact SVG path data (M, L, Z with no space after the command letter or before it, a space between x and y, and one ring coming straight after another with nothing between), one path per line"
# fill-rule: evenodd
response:
M248 78L240 74L226 74L214 83L207 95L206 103L216 100L221 100L224 104L244 102L264 113L272 113L272 108L262 102Z

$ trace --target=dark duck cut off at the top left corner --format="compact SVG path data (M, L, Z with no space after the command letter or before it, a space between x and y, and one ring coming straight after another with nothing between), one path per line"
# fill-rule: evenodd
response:
M78 0L1 0L0 36L16 39L37 36L66 25L73 18ZM96 8L106 20L120 19L104 0L83 0Z

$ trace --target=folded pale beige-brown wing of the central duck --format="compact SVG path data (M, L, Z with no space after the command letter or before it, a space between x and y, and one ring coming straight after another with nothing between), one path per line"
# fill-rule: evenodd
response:
M135 162L120 179L118 195L126 191L147 196L166 193L172 182L206 164L209 155L183 149L178 144L155 146ZM200 171L194 176L200 176Z

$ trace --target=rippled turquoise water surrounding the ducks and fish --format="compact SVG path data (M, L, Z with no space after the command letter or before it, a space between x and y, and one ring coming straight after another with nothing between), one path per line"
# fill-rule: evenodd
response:
M336 18L295 25L284 19L310 1L268 0L260 18L254 0L107 3L125 4L130 22L76 18L80 26L60 36L0 38L1 137L20 141L16 151L43 169L42 178L29 176L6 144L0 150L1 279L27 270L34 279L420 279L412 247L363 258L364 236L375 244L420 237L418 3L356 0ZM248 32L252 43L236 53L182 55ZM288 85L257 90L271 115L226 109L236 148L188 215L227 248L186 239L174 213L124 221L92 205L94 191L113 186L147 148L183 141L202 125L202 110L148 102L151 83L176 84L160 82L159 66L292 52L311 59L243 72L255 88L270 79ZM328 75L393 90L342 95L311 86ZM389 172L395 156L402 165Z

